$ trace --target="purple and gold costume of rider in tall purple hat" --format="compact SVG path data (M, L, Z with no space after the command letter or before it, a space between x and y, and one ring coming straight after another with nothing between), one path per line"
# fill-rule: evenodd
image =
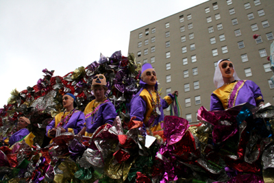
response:
M173 95L169 94L164 97L164 99L160 98L160 112L161 115L156 117L154 121L150 121L151 113L153 112L153 107L151 105L152 99L149 95L147 89L145 89L145 82L140 80L141 88L138 93L133 97L130 102L130 117L136 117L135 120L144 122L146 127L150 127L152 131L161 130L160 122L164 121L164 109L168 108L169 105L173 101ZM157 90L158 84L155 84L155 90ZM156 93L153 92L153 99L156 102Z

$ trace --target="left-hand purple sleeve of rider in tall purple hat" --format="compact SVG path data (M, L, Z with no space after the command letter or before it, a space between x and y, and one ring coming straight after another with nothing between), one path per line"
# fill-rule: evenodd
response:
M145 112L147 108L147 103L140 97L134 97L130 103L130 118L136 117L136 121L143 121L145 117Z

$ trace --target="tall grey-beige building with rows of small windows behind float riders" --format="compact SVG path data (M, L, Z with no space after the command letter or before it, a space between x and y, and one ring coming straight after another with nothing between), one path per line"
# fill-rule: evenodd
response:
M210 0L130 32L129 53L154 67L162 97L179 91L182 117L197 121L210 110L216 62L229 58L241 80L260 86L274 103L267 56L274 32L273 0ZM255 40L253 34L260 36ZM169 109L165 114L169 114Z

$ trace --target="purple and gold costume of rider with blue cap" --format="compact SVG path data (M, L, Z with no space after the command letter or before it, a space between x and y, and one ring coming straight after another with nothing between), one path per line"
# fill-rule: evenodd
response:
M51 136L49 134L49 130L51 130L51 128L53 127L57 127L58 124L60 123L61 119L62 119L62 115L64 114L64 117L66 117L70 112L61 112L59 114L57 114L53 121L51 121L51 123L49 123L49 125L47 125L47 133L46 135L49 136L50 138L53 138L54 136ZM82 111L76 110L71 118L69 119L68 123L64 123L63 127L64 129L66 129L66 132L71 132L73 134L78 134L82 128L84 127L84 123L85 123L85 116L84 113Z

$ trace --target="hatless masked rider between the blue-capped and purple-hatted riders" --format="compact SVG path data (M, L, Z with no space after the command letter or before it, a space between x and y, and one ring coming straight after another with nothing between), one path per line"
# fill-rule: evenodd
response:
M91 90L95 99L90 101L84 110L86 123L79 134L92 136L92 133L105 123L112 125L116 118L116 110L112 102L105 97L108 90L106 87L105 76L102 74L95 75L92 80Z

